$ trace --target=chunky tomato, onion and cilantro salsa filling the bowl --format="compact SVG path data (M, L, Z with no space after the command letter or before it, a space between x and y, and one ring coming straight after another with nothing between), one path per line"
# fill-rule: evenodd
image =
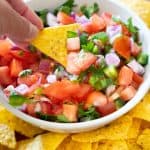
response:
M132 18L123 22L99 6L68 0L54 12L36 12L45 27L79 23L68 31L67 66L30 45L22 50L0 40L0 85L8 103L33 117L54 122L83 122L111 114L136 94L148 55Z

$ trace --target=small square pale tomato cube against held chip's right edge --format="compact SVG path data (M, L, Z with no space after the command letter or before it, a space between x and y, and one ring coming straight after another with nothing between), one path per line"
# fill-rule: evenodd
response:
M67 50L68 51L78 51L79 49L80 49L79 37L67 39Z

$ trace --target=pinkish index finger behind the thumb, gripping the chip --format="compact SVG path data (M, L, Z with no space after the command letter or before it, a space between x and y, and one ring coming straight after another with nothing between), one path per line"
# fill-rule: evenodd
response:
M41 19L22 1L22 0L7 0L11 6L31 23L39 29L43 28Z

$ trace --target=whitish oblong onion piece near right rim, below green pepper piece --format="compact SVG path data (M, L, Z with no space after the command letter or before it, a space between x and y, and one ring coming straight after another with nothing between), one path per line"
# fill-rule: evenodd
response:
M144 67L139 64L135 59L127 64L135 73L142 75L145 72Z

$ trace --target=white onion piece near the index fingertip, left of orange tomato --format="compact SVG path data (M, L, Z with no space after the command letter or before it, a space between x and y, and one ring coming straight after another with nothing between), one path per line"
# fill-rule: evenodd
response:
M52 13L47 14L47 24L52 27L52 26L58 26L59 24L57 23L57 17L54 16Z

